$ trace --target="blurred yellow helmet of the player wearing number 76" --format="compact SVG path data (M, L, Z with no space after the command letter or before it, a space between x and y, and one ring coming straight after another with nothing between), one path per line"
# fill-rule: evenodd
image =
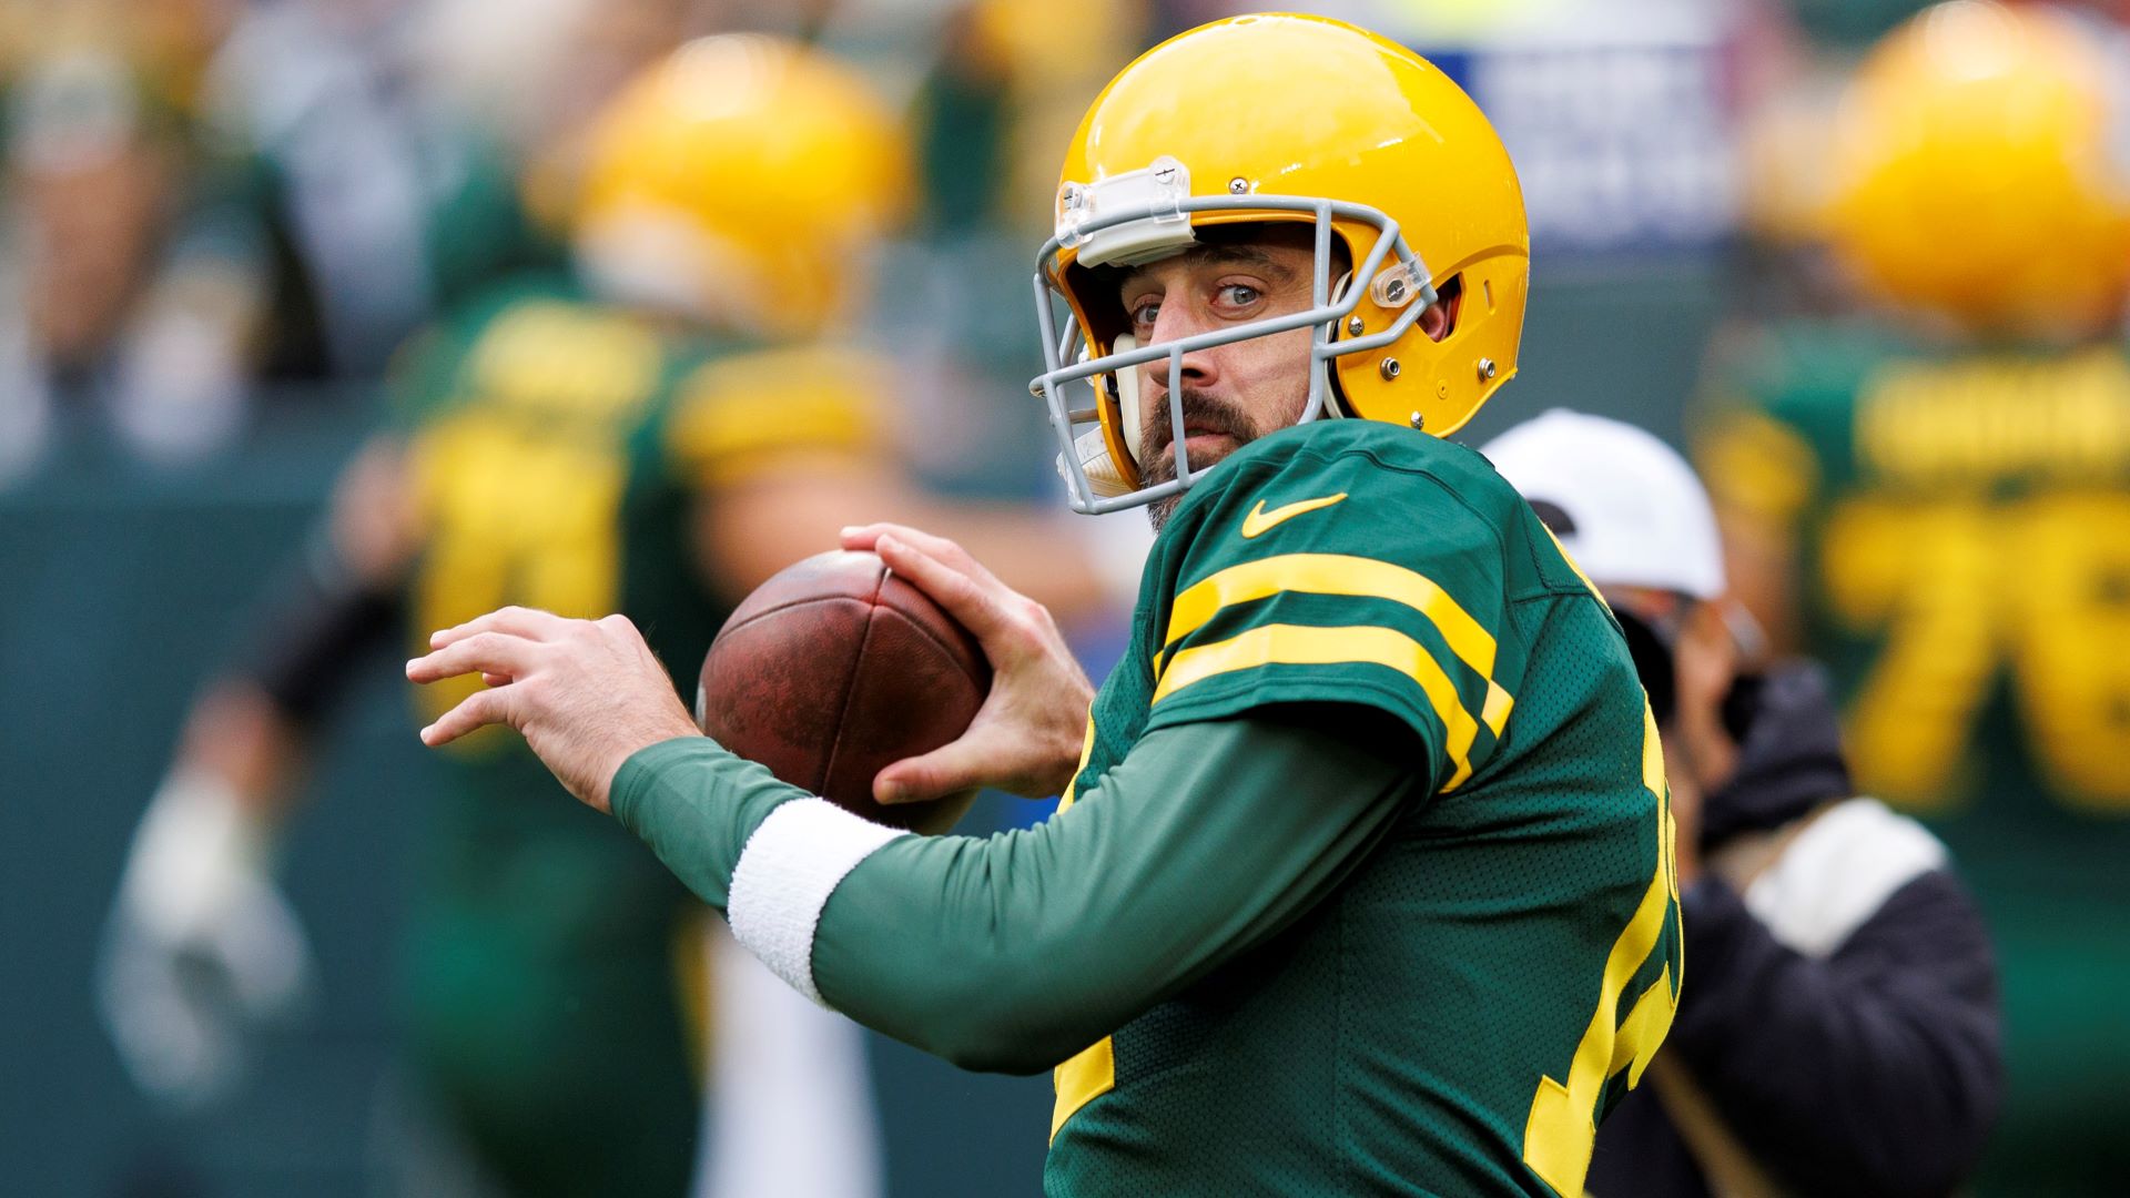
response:
M1836 128L1828 241L1879 298L1970 333L2090 333L2130 286L2130 162L2102 47L1955 0L1887 34Z

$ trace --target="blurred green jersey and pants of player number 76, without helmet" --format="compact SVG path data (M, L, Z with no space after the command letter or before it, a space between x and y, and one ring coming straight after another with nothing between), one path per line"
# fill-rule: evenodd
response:
M1985 1187L2113 1187L2130 354L1789 324L1740 337L1715 382L1698 456L1730 535L1787 563L1857 787L1932 825L1998 942L2011 1085Z

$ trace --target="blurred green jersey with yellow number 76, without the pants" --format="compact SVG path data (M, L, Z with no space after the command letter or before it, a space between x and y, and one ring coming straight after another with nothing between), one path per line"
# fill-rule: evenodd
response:
M1700 460L1734 541L1789 561L1857 782L1962 840L2011 821L2075 851L2130 819L2124 345L1800 326L1730 358Z

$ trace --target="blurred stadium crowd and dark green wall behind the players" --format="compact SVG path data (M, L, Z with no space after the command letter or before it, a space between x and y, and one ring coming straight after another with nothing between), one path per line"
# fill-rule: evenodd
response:
M1800 247L1819 130L1859 49L1919 4L1308 9L1436 58L1519 162L1523 377L1465 439L1570 405L1685 443L1719 328L1840 303ZM2083 17L2119 32L2111 9ZM394 1087L394 934L432 780L390 654L285 848L320 953L307 1017L228 1098L164 1113L119 1068L92 974L183 708L381 418L394 350L558 254L520 171L567 153L573 122L686 36L780 30L850 58L907 107L922 188L882 271L892 303L829 333L897 356L899 377L867 382L892 390L901 450L937 488L1052 497L1027 279L1056 151L1131 53L1233 11L0 0L0 1192L392 1192L392 1145L420 1134ZM1103 631L1086 637L1099 652ZM1027 819L995 804L971 827ZM869 1053L890 1194L1033 1192L1046 1079Z

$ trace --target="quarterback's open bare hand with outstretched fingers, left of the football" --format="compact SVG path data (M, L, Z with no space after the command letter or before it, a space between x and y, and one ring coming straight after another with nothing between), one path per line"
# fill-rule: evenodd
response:
M639 748L701 735L673 680L626 616L564 620L503 608L428 637L428 657L407 663L413 682L479 674L486 691L422 729L422 744L449 744L486 725L511 725L532 752L594 810L613 774Z

